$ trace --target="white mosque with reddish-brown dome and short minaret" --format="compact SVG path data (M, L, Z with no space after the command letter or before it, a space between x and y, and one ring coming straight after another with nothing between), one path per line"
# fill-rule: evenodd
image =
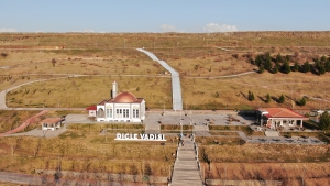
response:
M131 92L118 94L117 83L112 83L111 98L103 100L96 107L87 108L89 116L94 114L97 121L143 122L145 119L145 101Z

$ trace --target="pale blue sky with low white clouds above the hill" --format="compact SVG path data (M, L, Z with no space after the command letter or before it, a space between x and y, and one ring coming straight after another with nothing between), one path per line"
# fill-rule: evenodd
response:
M0 32L330 31L330 0L1 0Z

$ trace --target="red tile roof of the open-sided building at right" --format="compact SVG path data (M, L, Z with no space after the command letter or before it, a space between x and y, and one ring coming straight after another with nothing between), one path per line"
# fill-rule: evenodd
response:
M287 108L260 108L258 111L266 111L268 113L264 114L266 118L299 118L308 119L305 116L297 113Z

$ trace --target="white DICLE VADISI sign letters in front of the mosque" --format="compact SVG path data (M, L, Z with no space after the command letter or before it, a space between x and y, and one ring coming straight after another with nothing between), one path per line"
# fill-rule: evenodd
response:
M164 134L117 133L114 140L166 141Z

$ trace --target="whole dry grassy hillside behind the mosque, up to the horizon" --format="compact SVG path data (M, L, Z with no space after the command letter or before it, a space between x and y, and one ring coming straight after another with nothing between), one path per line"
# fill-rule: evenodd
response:
M91 83L88 83L87 77L80 77L26 85L8 94L8 105L86 107L108 98L110 83L118 80L122 91L144 97L150 108L163 108L165 102L166 108L170 109L168 75L161 77L160 74L165 73L164 68L135 50L146 47L179 72L184 108L326 109L329 108L326 101L310 99L305 107L293 102L300 100L304 95L329 100L329 86L326 86L329 73L322 76L304 73L264 73L232 78L221 76L256 70L256 66L248 63L246 55L255 57L265 52L270 52L272 56L278 53L295 55L300 64L306 59L311 62L317 56L327 56L330 52L329 35L328 32L1 34L0 48L8 55L0 57L0 66L10 67L0 69L3 72L0 89L35 79L79 74L94 76L90 78ZM125 77L127 75L130 77ZM121 79L124 79L124 84ZM151 85L152 81L154 86ZM41 86L44 91L37 90ZM59 87L65 87L63 92ZM31 90L36 92L32 94ZM248 101L249 90L254 92L255 101ZM267 94L274 98L270 103L264 101ZM280 95L286 96L283 105L275 101Z

